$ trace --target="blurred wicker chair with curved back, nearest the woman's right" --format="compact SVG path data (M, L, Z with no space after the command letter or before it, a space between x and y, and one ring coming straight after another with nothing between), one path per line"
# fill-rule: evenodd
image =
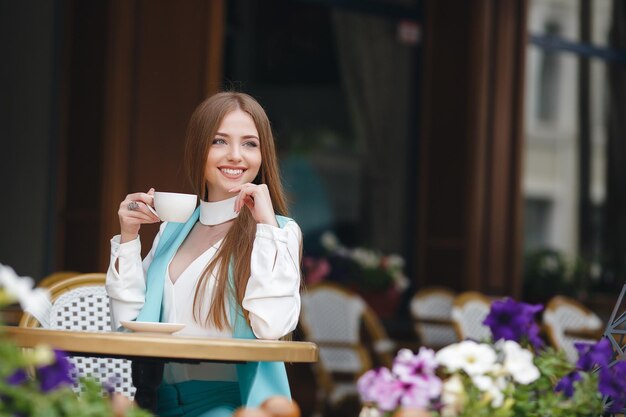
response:
M356 395L356 379L375 362L390 366L394 343L389 340L376 313L356 293L339 285L323 283L302 296L300 324L307 340L319 347L315 364L318 384L317 411ZM372 343L374 357L364 346Z

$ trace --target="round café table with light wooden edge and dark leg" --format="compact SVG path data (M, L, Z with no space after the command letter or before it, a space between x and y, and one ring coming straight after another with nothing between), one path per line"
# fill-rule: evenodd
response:
M132 361L135 401L154 410L156 389L166 362L317 361L317 346L309 342L208 339L152 333L84 332L41 328L0 327L0 334L18 346L40 344L73 356L121 358Z

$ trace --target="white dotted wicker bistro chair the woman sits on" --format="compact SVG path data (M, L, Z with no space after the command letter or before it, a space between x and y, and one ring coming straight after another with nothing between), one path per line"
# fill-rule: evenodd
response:
M46 327L58 330L89 332L111 331L109 297L104 282L105 274L83 274L59 280L50 290L52 305L41 323L28 313L20 321L22 327ZM45 321L45 320L43 320ZM42 325L43 324L43 325ZM75 377L90 377L112 386L116 392L134 398L135 387L131 378L131 362L125 359L74 356ZM80 385L74 391L81 391Z

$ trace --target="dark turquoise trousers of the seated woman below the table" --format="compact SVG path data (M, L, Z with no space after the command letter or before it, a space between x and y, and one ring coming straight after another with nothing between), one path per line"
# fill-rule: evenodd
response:
M163 383L158 394L159 417L231 417L241 406L237 382Z

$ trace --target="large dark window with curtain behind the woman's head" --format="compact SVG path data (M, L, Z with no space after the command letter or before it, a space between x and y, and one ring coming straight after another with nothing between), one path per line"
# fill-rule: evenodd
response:
M411 253L417 41L398 14L415 2L376 3L228 2L225 78L269 113L305 253L326 230Z

